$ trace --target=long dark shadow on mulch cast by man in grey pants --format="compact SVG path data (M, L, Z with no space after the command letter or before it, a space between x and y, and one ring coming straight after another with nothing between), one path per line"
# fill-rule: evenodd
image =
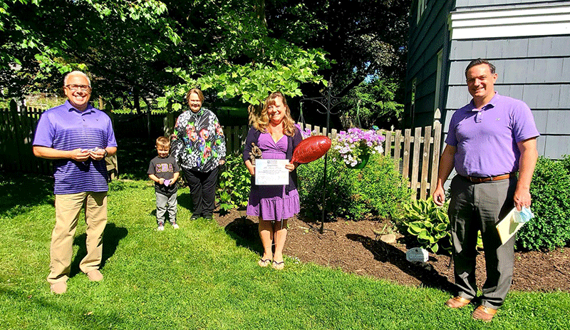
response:
M424 287L440 289L450 294L455 294L457 291L455 284L449 282L447 277L440 275L430 264L412 264L405 259L404 252L390 244L361 234L346 234L346 237L354 242L360 242L363 247L372 252L374 259L379 262L390 262L402 272L419 279Z

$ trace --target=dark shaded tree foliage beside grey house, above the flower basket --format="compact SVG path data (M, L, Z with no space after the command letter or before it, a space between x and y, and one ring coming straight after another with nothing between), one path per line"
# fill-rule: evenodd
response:
M336 94L368 76L403 78L410 0L267 1L272 35L328 53ZM340 86L340 88L339 88Z

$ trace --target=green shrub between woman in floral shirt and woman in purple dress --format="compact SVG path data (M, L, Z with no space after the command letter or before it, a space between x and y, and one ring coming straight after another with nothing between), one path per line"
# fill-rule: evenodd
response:
M227 156L216 190L216 202L222 212L247 206L251 177L241 155Z

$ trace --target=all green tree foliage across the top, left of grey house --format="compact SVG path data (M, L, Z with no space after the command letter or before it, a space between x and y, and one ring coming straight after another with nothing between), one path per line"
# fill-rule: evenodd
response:
M88 71L105 98L164 96L159 105L173 110L195 86L251 104L269 91L320 90L323 76L350 89L370 74L403 72L408 7L408 0L4 0L1 93L61 91L61 74L73 68Z

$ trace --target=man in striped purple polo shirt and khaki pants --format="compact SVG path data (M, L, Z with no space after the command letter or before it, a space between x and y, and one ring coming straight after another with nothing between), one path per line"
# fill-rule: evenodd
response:
M107 224L107 167L105 157L117 152L110 118L88 102L91 83L85 73L73 71L63 79L68 100L41 115L33 138L33 155L53 160L56 226L51 233L51 291L67 290L73 235L85 204L87 255L79 268L91 281L100 281L103 230Z

